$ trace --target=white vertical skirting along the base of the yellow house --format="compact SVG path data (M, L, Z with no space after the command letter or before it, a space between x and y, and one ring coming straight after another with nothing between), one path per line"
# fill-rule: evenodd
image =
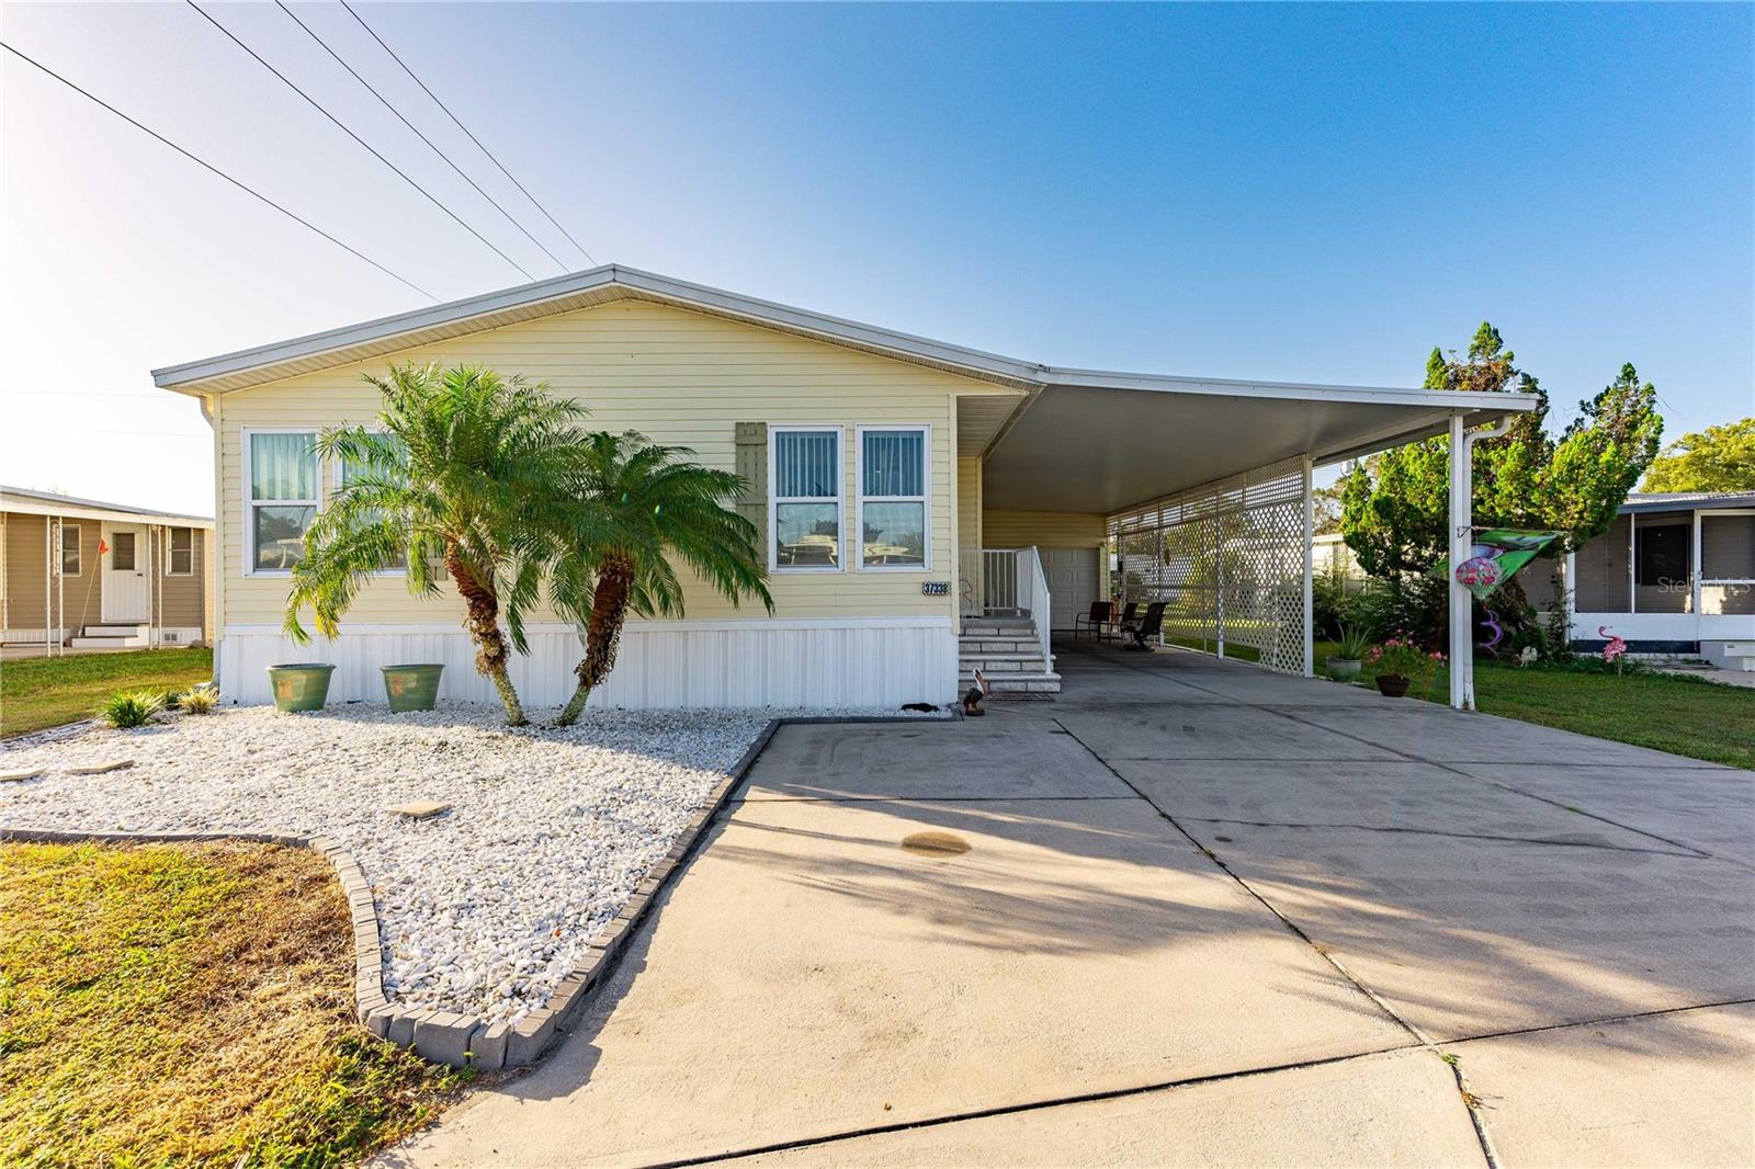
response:
M526 706L560 706L572 693L583 646L570 625L528 628L530 653L512 656L512 681ZM342 627L335 641L297 646L277 627L232 625L219 639L221 693L233 702L272 700L267 667L332 662L330 702L383 702L379 667L444 662L441 699L497 702L476 672L476 648L456 627ZM616 669L591 706L655 707L849 707L946 704L956 697L956 634L949 620L846 621L641 621L621 635Z

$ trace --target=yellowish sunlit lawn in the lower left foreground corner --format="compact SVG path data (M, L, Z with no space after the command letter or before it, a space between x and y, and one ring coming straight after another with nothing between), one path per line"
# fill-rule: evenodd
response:
M353 1022L321 857L0 846L0 1164L351 1164L462 1078Z

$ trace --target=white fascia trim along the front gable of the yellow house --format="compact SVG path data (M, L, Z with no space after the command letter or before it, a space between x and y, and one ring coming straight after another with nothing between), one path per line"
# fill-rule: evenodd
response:
M811 312L809 309L799 309L774 300L760 300L756 297L744 297L721 288L690 284L688 281L677 281L667 276L607 263L584 272L569 272L567 276L556 276L553 279L535 281L530 284L518 284L516 288L504 288L481 297L453 300L430 309L383 316L376 321L330 328L319 333L307 333L305 337L293 337L291 341L276 341L251 349L237 349L235 353L202 358L198 362L184 362L183 365L165 365L153 370L153 384L163 390L181 390L183 386L200 383L209 377L235 374L260 365L274 365L276 362L293 362L333 349L346 349L347 346L384 341L398 333L412 333L423 328L462 323L476 316L535 305L544 300L576 297L579 293L609 288L612 284L620 284L649 297L660 297L679 304L700 305L716 312L739 316L760 325L816 333L830 341L846 341L890 349L906 356L960 365L988 376L1037 383L1042 374L1042 367L1034 362L1020 362L997 353L983 353L981 349L969 349L944 341L899 333L876 325L862 325L858 321L823 312ZM188 390L183 391L190 393Z

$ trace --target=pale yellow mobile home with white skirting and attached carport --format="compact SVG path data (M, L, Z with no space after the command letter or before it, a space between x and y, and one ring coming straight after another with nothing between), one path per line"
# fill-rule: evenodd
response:
M214 427L216 671L233 700L267 700L267 665L311 658L339 665L332 699L377 699L377 667L398 662L444 662L442 693L490 699L456 597L414 599L400 574L362 592L333 642L281 632L300 535L342 474L309 444L370 423L362 376L393 362L546 381L593 427L690 446L751 483L776 613L691 588L686 620L630 623L593 702L648 707L946 702L978 663L1055 690L1049 630L1107 597L1107 542L1134 595L1307 671L1311 469L1534 407L1057 369L623 267L576 272L154 370ZM974 637L993 616L1023 628ZM514 678L558 704L577 634L535 614L530 641Z

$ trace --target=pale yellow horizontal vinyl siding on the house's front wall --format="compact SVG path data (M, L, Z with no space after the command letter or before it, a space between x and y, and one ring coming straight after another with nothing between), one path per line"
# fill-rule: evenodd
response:
M251 427L311 427L370 421L377 391L362 374L383 374L391 362L486 365L504 376L548 381L556 393L591 407L588 425L639 430L656 442L695 449L711 467L734 469L735 423L821 423L842 430L844 528L849 560L856 560L855 427L920 423L932 428L930 527L932 565L925 572L776 574L772 592L781 618L946 616L955 597L925 597L923 579L955 579L953 516L955 395L978 383L874 355L792 337L753 325L704 316L644 300L581 309L500 330L458 337L302 374L225 397L216 409L219 430L221 597L225 625L279 625L286 600L284 576L244 576L246 511L242 432ZM323 470L325 490L333 469ZM765 535L763 535L765 539ZM955 593L955 590L953 590ZM688 618L762 616L742 611L704 588L688 590ZM409 597L402 577L372 581L349 621L453 621L462 607L449 593L437 600ZM535 613L532 620L553 614Z

